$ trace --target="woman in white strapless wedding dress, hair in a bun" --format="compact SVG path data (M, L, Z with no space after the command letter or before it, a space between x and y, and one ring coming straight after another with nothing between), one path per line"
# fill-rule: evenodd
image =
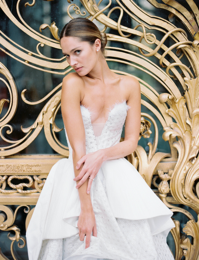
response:
M35 207L29 260L173 259L166 245L172 212L123 158L137 147L139 82L109 69L106 42L84 18L61 32L75 70L63 79L61 98L70 155L52 167Z

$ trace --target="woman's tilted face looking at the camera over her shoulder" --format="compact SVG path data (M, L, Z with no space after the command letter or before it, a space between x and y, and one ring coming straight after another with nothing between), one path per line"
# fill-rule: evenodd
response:
M77 37L63 37L60 40L62 52L69 65L80 75L87 75L96 65L97 47ZM99 48L98 48L99 49Z

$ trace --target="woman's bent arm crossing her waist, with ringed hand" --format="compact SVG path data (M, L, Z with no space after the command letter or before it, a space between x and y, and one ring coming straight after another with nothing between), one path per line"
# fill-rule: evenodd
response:
M125 121L125 139L109 148L88 153L77 162L77 169L82 167L79 175L74 180L80 180L77 188L90 176L94 179L102 163L106 160L118 159L134 152L137 148L141 124L141 92L139 82L132 77L127 77L123 83L127 86L127 104L130 106ZM89 179L87 193L90 192L92 179Z

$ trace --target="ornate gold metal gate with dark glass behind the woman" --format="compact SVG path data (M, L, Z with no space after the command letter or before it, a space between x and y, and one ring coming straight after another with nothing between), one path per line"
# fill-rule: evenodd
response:
M0 259L27 259L33 205L52 165L68 156L60 97L71 68L58 31L74 17L106 31L110 68L140 81L141 139L128 160L174 212L175 259L199 259L197 6L198 0L0 0Z

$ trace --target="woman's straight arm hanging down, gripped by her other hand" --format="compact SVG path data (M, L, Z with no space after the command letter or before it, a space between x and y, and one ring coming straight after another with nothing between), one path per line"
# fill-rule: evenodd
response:
M68 74L63 79L61 97L62 117L73 151L75 176L78 176L83 166L76 169L77 162L86 154L85 130L80 109L82 87L84 87L84 82L75 73ZM85 180L78 189L81 202L81 213L77 223L80 240L83 241L86 235L86 248L90 245L92 232L93 235L96 236L95 215L90 195L86 192L87 185L88 180Z

